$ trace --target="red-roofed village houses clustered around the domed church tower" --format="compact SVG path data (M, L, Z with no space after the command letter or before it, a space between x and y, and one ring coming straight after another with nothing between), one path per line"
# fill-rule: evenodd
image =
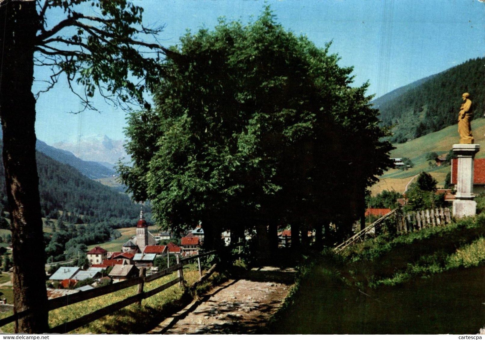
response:
M204 230L200 224L181 237L180 245L174 242L160 245L165 240L173 239L173 236L170 232L149 232L141 211L136 235L124 243L120 251L109 252L96 246L86 253L89 266L61 266L53 274L48 275L48 298L53 299L136 278L142 268L145 268L147 275L157 273L163 268L179 263L182 258L198 255L204 243ZM310 232L308 236L314 236L314 233ZM251 235L247 233L245 238L247 241ZM225 246L231 244L230 231L221 233L221 242L224 242ZM279 247L289 247L291 231L278 232L278 243ZM0 301L0 304L7 304L7 301Z

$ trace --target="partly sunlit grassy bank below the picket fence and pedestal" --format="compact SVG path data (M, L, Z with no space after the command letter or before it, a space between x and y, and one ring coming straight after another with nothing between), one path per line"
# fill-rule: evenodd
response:
M375 239L342 252L342 275L357 285L396 285L460 267L485 263L485 214L435 227Z

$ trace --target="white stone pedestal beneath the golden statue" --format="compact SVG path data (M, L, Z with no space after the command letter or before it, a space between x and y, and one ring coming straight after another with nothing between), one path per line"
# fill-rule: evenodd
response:
M453 152L458 157L456 194L453 201L453 216L473 216L477 203L473 201L473 159L480 150L480 144L453 144Z

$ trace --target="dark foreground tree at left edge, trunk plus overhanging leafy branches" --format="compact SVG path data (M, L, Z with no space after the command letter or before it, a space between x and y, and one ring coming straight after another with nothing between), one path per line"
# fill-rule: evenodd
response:
M161 54L167 51L139 40L161 30L143 27L142 12L126 0L0 0L0 118L18 331L48 330L35 164L34 65L52 71L44 91L65 76L84 108L94 108L91 98L96 92L116 105L134 102L147 108L143 92L160 76ZM156 53L146 58L144 49Z

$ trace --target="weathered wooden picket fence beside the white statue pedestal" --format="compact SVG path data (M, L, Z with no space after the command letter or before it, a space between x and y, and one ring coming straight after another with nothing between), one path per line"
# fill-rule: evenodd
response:
M408 213L398 212L396 219L397 232L399 233L444 226L452 222L449 208L426 209Z

